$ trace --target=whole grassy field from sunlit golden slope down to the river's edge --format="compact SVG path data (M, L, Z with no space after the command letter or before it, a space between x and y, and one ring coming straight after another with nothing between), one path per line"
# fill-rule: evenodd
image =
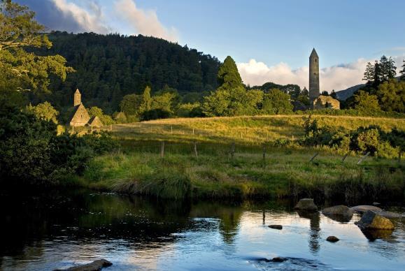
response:
M163 198L311 196L354 202L403 198L404 162L329 149L266 147L304 134L302 116L164 119L113 126L120 152L94 159L76 182ZM405 129L405 119L315 116L320 124ZM194 129L194 133L193 133ZM161 157L162 141L164 156ZM197 147L196 156L194 142ZM235 152L232 156L232 143ZM310 162L316 152L319 155Z

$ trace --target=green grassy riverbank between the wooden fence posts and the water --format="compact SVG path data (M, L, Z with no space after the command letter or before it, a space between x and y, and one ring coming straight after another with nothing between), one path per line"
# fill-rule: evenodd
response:
M153 147L152 147L153 146ZM224 145L167 145L132 149L93 159L70 182L91 189L158 198L291 198L318 200L404 198L404 164L392 159L343 157L315 149L267 149ZM260 149L259 149L260 150ZM255 152L256 151L256 152ZM313 154L318 156L309 161Z

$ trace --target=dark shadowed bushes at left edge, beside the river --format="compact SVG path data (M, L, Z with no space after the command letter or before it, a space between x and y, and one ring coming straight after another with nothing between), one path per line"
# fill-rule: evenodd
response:
M117 147L107 133L57 136L52 120L9 106L0 108L0 127L1 180L57 182L66 173L83 173L94 155Z

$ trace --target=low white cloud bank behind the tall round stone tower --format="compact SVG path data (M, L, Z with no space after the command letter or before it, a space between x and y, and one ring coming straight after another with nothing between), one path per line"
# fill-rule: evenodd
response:
M395 60L398 68L402 66L403 57L392 58ZM370 59L357 59L357 61L349 64L320 69L321 91L327 90L330 92L332 89L338 91L364 83L362 78L368 61L374 63L374 60ZM238 63L237 66L246 85L263 85L265 82L274 82L280 85L297 84L301 88L308 88L308 66L293 70L283 62L275 66L267 66L255 59L250 59L248 63Z

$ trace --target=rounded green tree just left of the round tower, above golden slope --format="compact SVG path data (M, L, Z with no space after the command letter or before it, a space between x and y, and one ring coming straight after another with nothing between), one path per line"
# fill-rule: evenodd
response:
M283 114L292 112L290 95L280 91L280 89L271 89L268 94L264 94L262 113L263 114Z

